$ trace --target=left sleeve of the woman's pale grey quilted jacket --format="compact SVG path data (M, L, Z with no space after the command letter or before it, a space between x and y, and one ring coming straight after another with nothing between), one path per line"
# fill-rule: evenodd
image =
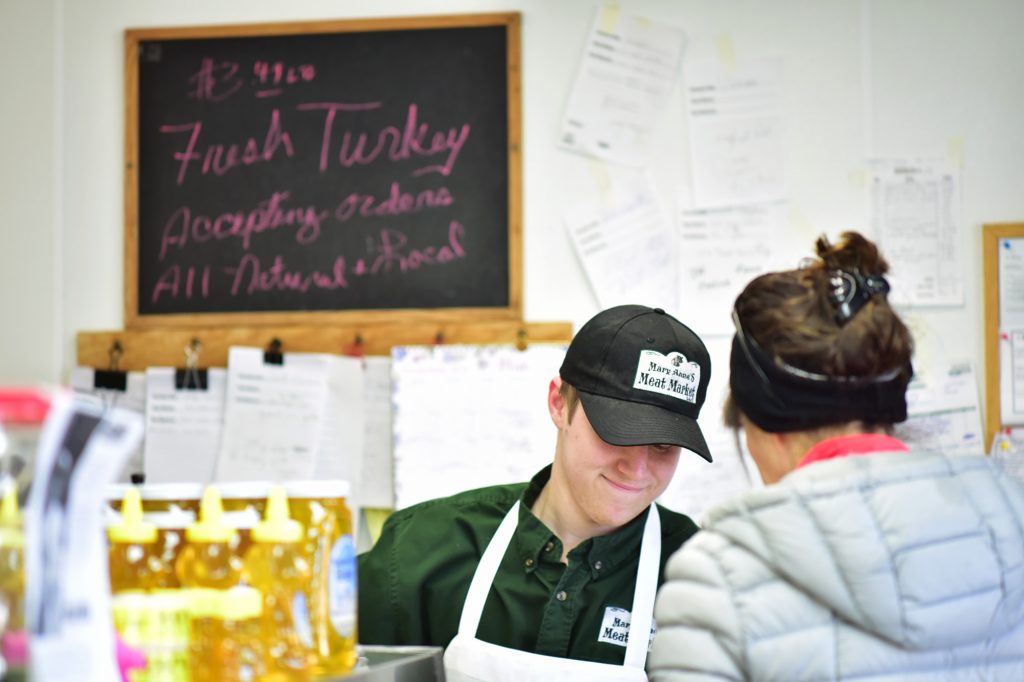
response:
M701 531L669 559L647 657L653 682L744 679L740 622L722 564L727 551L722 537Z

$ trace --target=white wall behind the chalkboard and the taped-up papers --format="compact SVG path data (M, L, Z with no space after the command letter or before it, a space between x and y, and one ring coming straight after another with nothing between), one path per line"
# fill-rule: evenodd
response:
M73 365L76 332L122 326L126 28L521 11L524 316L579 327L598 309L560 218L563 206L587 196L592 162L553 144L596 0L2 2L0 55L8 58L0 63L34 62L35 71L0 70L0 124L8 133L26 131L8 134L0 165L6 332L0 381L59 380ZM908 314L920 336L919 365L973 358L980 371L981 225L1024 219L1024 3L618 4L624 12L682 28L687 59L719 57L723 50L737 59L784 57L791 220L808 250L818 232L867 228L866 157L947 156L963 164L967 303ZM8 17L16 17L16 29ZM11 92L28 96L11 98ZM672 207L689 180L685 136L677 91L652 163ZM803 255L794 253L793 262ZM696 303L685 302L679 316L685 321L687 305ZM719 381L723 368L718 365Z

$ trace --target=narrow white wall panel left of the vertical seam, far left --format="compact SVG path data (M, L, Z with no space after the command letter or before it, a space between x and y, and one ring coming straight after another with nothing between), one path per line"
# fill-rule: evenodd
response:
M56 4L0 0L0 386L59 373Z

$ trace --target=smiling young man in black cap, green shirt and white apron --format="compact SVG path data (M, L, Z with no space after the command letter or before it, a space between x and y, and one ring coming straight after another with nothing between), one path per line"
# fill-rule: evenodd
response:
M652 503L681 447L712 459L711 360L672 315L623 305L580 330L559 375L551 465L403 509L359 557L361 642L447 647L450 680L646 679L662 569L697 529Z

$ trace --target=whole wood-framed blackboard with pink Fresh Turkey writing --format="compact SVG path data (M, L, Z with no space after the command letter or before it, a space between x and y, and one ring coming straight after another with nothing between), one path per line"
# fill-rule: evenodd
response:
M126 32L126 325L521 317L519 17Z

